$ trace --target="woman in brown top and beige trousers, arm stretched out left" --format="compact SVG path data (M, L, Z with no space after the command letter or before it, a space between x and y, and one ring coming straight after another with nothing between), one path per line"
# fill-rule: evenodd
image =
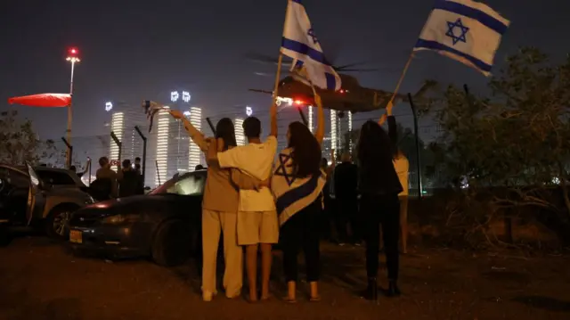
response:
M202 152L208 152L208 142L180 111L169 111L183 121L184 128ZM231 119L220 119L216 124L217 152L235 147L235 132ZM237 241L237 211L239 189L258 189L264 185L237 169L220 168L217 162L208 163L208 178L202 201L202 298L210 301L216 295L216 259L220 233L224 233L224 289L228 298L240 296L243 279L243 251Z

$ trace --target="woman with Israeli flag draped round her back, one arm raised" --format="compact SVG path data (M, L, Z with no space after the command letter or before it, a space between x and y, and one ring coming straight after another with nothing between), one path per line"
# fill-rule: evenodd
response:
M301 249L305 253L311 300L321 299L317 284L320 258L318 230L326 174L321 169L324 117L321 98L318 95L315 95L315 103L318 107L315 135L300 122L289 124L287 148L278 155L271 181L281 225L283 269L288 287L285 301L289 303L297 301L297 256Z

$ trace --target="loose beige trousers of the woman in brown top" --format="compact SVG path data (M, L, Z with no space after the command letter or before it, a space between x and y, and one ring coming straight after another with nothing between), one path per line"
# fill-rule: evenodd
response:
M240 294L243 278L243 250L238 245L235 212L202 209L202 291L216 293L216 259L220 232L224 232L224 289L229 298Z

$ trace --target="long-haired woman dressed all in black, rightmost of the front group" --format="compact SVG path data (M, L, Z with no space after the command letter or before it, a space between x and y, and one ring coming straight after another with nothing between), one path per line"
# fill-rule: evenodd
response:
M366 242L366 273L368 288L366 299L378 299L379 226L382 226L384 250L388 269L388 296L400 294L397 286L400 233L400 202L398 193L403 191L395 172L396 148L386 131L374 121L367 121L361 129L358 141L360 162L359 188L361 215Z

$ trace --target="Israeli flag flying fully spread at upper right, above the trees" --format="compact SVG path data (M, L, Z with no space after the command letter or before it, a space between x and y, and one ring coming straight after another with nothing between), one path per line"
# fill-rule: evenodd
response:
M436 0L414 51L433 50L491 75L510 21L472 0Z

